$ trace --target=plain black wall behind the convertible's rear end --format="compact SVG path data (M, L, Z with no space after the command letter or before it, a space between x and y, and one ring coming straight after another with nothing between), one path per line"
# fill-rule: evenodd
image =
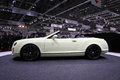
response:
M85 36L103 38L108 43L109 51L112 52L120 51L120 35L117 33L86 34Z

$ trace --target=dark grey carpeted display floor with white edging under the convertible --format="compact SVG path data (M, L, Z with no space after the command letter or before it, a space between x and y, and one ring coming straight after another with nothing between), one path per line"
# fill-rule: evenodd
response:
M14 57L11 52L1 54L6 54L0 57L1 80L120 80L119 53L108 52L99 60L64 57L31 62Z

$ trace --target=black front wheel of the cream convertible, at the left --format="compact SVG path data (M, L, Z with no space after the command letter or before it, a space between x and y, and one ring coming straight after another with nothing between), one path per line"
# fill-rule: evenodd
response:
M34 61L40 57L40 51L37 46L28 44L21 49L20 55L25 61Z

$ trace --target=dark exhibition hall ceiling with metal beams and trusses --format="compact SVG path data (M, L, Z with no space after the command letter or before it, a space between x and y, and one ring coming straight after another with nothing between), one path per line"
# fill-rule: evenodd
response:
M120 26L120 0L101 0L101 4L99 8L91 0L0 0L0 25L50 26L71 19Z

